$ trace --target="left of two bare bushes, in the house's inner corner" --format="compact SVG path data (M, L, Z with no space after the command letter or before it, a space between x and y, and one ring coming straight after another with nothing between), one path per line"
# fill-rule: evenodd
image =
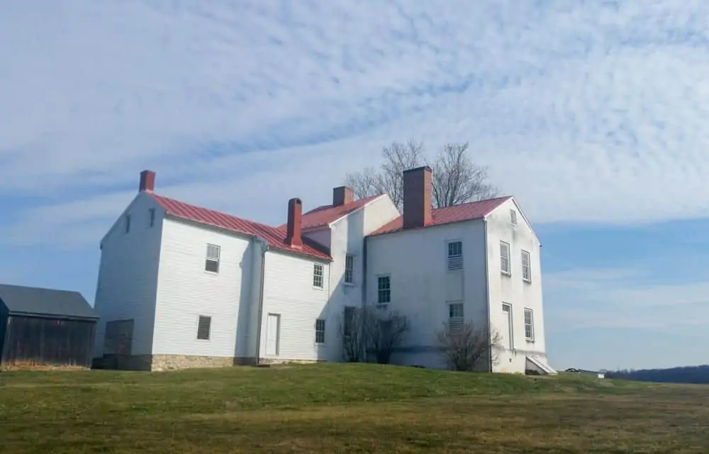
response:
M408 329L406 316L395 311L372 306L346 307L340 323L342 356L347 362L363 362L371 354L376 362L388 364Z

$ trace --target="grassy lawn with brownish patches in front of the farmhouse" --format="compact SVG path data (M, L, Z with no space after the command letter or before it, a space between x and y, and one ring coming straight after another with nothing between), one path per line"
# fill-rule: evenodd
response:
M705 453L709 387L378 365L3 372L2 453Z

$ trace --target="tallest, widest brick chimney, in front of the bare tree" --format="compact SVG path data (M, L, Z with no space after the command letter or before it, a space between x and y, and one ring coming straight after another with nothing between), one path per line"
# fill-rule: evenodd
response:
M403 172L403 228L431 223L431 173L428 165Z

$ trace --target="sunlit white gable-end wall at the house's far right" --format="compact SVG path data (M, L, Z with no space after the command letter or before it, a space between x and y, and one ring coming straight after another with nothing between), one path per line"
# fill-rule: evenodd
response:
M510 221L510 210L517 212L517 226ZM489 257L490 322L493 330L505 331L503 302L513 307L513 347L498 353L494 372L525 372L526 355L546 360L544 313L542 308L542 270L540 242L513 200L506 201L487 216ZM510 244L511 275L501 273L500 241ZM530 253L531 282L522 279L522 250ZM524 309L532 309L534 341L525 339Z

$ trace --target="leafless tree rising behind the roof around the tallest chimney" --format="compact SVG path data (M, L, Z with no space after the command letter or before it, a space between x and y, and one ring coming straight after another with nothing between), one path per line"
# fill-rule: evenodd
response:
M490 199L497 194L497 189L487 183L487 167L471 160L467 143L445 143L433 160L425 157L423 143L413 140L406 144L394 142L382 148L381 155L384 162L379 170L367 167L345 177L345 184L360 199L386 193L401 210L403 171L421 165L433 170L434 208Z

